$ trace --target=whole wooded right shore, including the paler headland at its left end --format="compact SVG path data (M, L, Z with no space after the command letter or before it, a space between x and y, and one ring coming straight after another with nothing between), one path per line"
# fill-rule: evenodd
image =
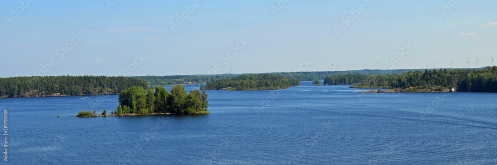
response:
M409 71L392 75L340 75L325 78L325 84L351 84L350 88L388 89L377 92L497 92L497 66L486 69L440 69Z

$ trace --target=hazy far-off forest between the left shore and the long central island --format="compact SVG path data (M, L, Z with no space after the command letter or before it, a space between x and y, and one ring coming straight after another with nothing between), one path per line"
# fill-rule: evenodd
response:
M231 78L237 75L178 75L178 76L136 76L134 78L143 79L151 85L177 85L177 84L205 84L223 78Z

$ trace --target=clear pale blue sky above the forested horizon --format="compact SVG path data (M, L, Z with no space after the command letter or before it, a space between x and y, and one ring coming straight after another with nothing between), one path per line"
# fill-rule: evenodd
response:
M483 67L497 57L496 6L496 0L2 0L0 77L450 68L450 61L454 68Z

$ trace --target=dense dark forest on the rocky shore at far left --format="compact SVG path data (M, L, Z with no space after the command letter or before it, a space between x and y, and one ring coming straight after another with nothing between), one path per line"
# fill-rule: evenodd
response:
M132 86L147 87L147 82L131 77L108 76L33 76L0 78L0 97L43 97L60 95L118 94Z

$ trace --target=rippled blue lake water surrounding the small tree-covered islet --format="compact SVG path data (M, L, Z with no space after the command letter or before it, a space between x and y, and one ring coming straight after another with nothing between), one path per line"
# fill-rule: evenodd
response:
M497 162L495 93L358 94L364 90L302 84L207 91L211 113L203 115L69 117L110 113L117 95L0 99L9 114L8 163Z

